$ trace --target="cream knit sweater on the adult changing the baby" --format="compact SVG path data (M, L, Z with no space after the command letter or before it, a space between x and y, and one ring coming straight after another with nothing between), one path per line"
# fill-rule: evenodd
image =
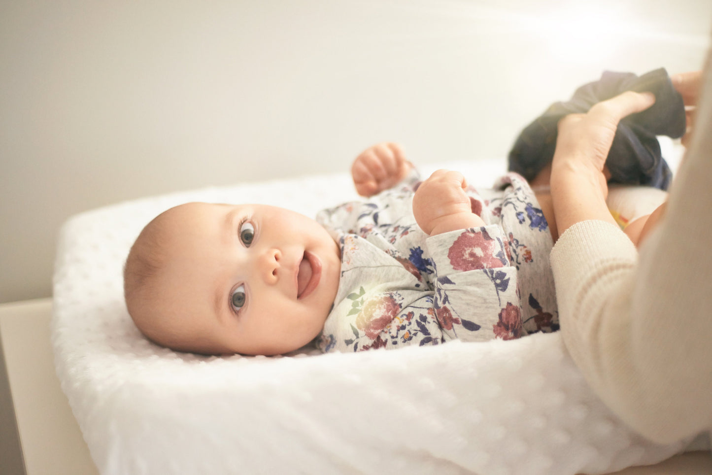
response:
M712 427L712 61L667 216L639 253L604 221L560 236L551 264L562 335L624 421L669 443Z

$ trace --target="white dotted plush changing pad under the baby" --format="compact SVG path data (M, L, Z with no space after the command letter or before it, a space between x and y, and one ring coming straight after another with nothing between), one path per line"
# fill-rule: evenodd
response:
M475 185L503 160L457 162ZM427 176L435 167L422 167ZM142 337L122 265L142 227L189 201L308 216L355 199L347 173L211 187L78 214L61 229L56 370L103 474L604 474L686 442L635 434L590 390L559 333L283 357L205 357Z

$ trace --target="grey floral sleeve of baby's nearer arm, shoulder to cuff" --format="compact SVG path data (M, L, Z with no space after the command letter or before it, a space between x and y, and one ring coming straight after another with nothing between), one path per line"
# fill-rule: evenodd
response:
M317 341L321 350L509 340L523 334L516 268L509 265L497 226L426 239L432 259L423 257L420 246L407 255L384 252L381 239L375 233L342 236L340 289Z

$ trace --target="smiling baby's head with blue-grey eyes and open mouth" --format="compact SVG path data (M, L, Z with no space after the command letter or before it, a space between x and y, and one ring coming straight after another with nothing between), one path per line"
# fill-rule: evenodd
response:
M278 355L309 343L336 297L340 250L302 214L188 203L159 214L126 259L137 327L174 350Z

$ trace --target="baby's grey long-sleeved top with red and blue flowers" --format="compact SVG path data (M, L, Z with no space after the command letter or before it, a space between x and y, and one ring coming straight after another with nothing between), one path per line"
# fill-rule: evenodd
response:
M427 236L412 200L417 172L397 187L317 216L341 247L335 303L316 343L325 353L448 340L509 340L558 329L549 266L553 239L515 173L468 187L486 226Z

